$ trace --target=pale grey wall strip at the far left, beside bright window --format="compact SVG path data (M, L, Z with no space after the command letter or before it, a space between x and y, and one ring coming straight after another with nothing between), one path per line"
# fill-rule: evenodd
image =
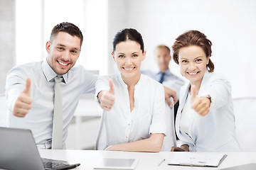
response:
M15 0L0 0L0 94L15 62Z

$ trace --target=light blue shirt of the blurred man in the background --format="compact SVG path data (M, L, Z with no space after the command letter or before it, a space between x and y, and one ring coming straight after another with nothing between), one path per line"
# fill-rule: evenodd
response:
M141 70L141 72L142 74L145 74L146 76L151 77L156 81L160 81L161 79L160 71L152 72L151 70ZM179 91L181 90L181 87L184 85L184 83L185 82L182 79L172 74L169 69L164 72L164 81L162 84L164 84L164 86L168 87L169 89L176 91L177 98L179 98Z

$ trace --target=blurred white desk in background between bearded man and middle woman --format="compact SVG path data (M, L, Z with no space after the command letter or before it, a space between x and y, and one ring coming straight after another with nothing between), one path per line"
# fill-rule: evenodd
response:
M102 108L94 99L95 94L80 98L78 108L68 127L67 149L92 149L100 128Z

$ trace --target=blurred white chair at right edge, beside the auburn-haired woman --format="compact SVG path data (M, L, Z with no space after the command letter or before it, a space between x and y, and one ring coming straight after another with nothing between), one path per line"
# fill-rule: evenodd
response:
M256 152L256 97L233 98L236 135L243 152Z

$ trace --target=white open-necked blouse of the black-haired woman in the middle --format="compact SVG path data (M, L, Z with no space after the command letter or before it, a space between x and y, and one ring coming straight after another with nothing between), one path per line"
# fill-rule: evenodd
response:
M120 72L108 77L99 77L95 84L96 93L109 90L109 79L114 82L114 106L103 111L106 141L110 145L144 140L151 133L166 133L164 123L164 87L158 82L141 74L134 88L134 109L130 111L127 84ZM100 134L101 135L101 134Z

